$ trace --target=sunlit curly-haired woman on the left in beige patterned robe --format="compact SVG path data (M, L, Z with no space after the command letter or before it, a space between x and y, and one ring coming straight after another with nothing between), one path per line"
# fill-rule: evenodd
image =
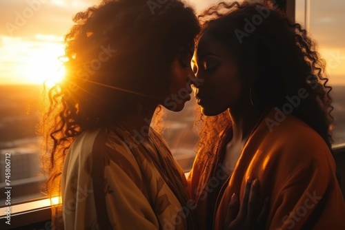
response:
M150 123L190 99L199 22L181 1L155 4L104 0L74 18L41 127L55 227L197 229L184 171Z

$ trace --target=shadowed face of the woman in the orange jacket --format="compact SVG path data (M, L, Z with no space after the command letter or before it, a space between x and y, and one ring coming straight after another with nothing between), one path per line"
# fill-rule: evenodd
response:
M228 49L213 36L204 33L192 60L197 78L195 96L202 114L221 114L239 100L242 83Z

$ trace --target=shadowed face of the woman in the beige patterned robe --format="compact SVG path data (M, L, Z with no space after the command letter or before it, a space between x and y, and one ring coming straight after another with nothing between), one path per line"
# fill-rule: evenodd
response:
M193 70L190 67L192 53L183 59L175 59L168 76L169 94L164 99L163 105L167 109L179 112L184 108L186 101L190 100L190 93L193 92L190 86L190 76L193 76Z

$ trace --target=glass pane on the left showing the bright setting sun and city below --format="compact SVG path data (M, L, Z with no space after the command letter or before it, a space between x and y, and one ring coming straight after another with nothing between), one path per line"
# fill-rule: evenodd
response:
M44 80L58 81L63 36L72 16L97 1L0 1L0 206L39 198L41 171L37 134Z

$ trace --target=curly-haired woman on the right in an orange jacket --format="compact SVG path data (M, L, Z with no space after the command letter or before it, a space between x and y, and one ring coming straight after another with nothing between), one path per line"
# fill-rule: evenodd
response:
M199 19L193 71L206 117L188 182L201 229L224 228L248 176L270 200L265 229L343 229L331 87L315 42L269 3L222 2Z

